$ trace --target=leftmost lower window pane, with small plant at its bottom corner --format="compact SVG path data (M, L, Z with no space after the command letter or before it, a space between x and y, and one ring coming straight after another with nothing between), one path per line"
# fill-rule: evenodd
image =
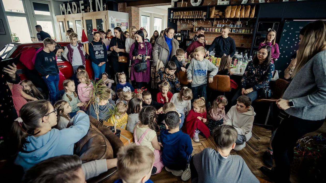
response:
M11 34L16 34L16 36L12 36L15 37L15 40L20 42L31 41L26 17L7 16L7 19Z

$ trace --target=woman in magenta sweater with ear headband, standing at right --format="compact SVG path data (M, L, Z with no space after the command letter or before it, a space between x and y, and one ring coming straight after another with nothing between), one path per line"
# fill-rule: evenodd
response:
M274 29L268 31L266 34L265 41L262 43L259 43L258 50L262 46L271 46L271 57L272 57L272 63L274 63L274 60L277 59L280 56L280 50L278 49L278 44L275 43L276 40L276 31Z

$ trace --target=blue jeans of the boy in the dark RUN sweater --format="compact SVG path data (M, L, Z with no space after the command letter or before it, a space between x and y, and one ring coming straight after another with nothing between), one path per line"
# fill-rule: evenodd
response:
M46 85L48 86L49 92L50 92L50 101L52 104L54 104L57 99L59 98L59 74L57 75L49 75L48 78L45 78L45 76L42 76L43 80L45 81Z

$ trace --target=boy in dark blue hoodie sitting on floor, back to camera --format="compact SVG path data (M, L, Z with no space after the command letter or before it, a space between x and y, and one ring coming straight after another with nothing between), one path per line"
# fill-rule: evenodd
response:
M179 130L181 121L178 112L167 112L164 121L166 129L161 130L161 143L165 169L175 176L181 176L183 181L187 181L191 176L189 168L193 150L191 138Z

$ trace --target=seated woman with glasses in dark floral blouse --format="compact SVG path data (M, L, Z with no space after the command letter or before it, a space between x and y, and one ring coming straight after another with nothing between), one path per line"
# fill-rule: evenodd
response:
M273 77L274 64L271 62L271 46L262 46L254 59L248 62L244 75L241 79L241 88L236 92L231 100L235 105L237 98L246 95L251 101L257 99L259 90L268 86Z

